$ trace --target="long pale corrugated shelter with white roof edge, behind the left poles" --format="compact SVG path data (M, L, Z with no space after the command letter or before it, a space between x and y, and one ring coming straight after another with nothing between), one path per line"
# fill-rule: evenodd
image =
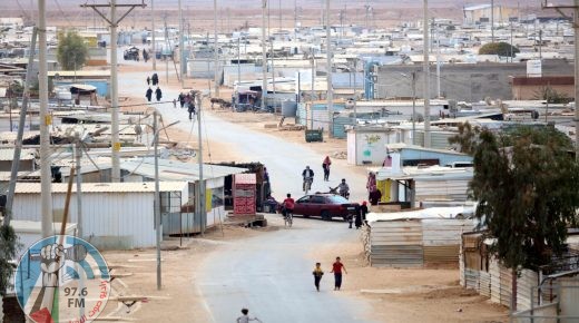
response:
M52 184L53 221L61 222L68 184ZM179 213L187 202L187 182L160 182L160 205L166 213ZM18 183L13 216L41 221L40 183ZM98 248L153 247L155 238L154 183L82 184L82 236ZM72 186L68 222L78 223L76 188ZM57 232L58 233L58 232Z

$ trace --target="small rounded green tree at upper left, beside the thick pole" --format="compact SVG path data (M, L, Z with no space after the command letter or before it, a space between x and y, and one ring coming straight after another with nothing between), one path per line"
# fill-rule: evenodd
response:
M58 33L57 59L63 70L80 69L88 59L88 46L76 31Z

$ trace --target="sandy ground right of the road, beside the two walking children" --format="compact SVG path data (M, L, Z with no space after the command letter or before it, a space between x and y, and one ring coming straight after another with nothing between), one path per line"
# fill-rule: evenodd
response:
M324 280L336 256L347 275L342 291L346 297L363 297L374 310L369 319L379 322L507 322L508 310L492 304L475 291L459 285L459 270L452 265L436 268L376 268L364 260L362 243L335 243L312 255L322 262Z

